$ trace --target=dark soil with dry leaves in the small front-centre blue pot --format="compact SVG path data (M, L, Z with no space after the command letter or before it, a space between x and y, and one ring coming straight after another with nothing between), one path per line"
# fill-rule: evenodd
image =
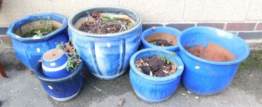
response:
M164 56L151 56L136 61L139 71L149 76L169 76L177 71L177 65L166 59Z

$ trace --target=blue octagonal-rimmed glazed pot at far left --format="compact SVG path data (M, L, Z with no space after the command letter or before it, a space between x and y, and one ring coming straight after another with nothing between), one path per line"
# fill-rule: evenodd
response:
M49 16L52 20L52 25L59 29L45 36L21 37L21 35L30 30L42 28L39 17L45 19ZM7 35L12 37L16 57L28 68L35 71L36 63L41 59L43 53L55 48L55 43L68 42L67 17L56 13L30 15L11 23L7 30Z

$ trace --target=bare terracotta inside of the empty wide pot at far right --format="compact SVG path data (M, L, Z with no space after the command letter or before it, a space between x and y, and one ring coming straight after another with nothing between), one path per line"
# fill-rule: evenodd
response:
M184 46L184 48L193 55L210 61L227 62L236 60L229 50L213 43L208 43L205 48L203 48L203 44L194 45L193 47Z

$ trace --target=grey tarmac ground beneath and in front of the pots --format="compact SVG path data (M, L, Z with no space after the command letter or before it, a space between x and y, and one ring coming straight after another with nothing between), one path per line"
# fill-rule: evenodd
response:
M250 46L253 49L258 48L253 46L261 44ZM120 98L125 99L122 106L262 106L262 72L256 67L237 71L231 85L221 93L212 96L187 93L187 98L181 94L186 90L180 85L172 96L161 103L146 103L136 95L129 81L128 69L123 76L112 81L103 81L91 73L84 72L83 84L77 97L59 102L46 94L34 72L18 61L13 49L7 47L0 46L0 62L9 76L0 77L2 106L105 107L117 106Z

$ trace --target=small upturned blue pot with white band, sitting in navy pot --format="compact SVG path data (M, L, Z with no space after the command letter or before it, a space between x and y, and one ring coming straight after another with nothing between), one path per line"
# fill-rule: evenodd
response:
M52 58L53 57L53 58ZM43 54L43 74L49 78L61 78L71 74L67 70L68 56L62 49L51 49Z

